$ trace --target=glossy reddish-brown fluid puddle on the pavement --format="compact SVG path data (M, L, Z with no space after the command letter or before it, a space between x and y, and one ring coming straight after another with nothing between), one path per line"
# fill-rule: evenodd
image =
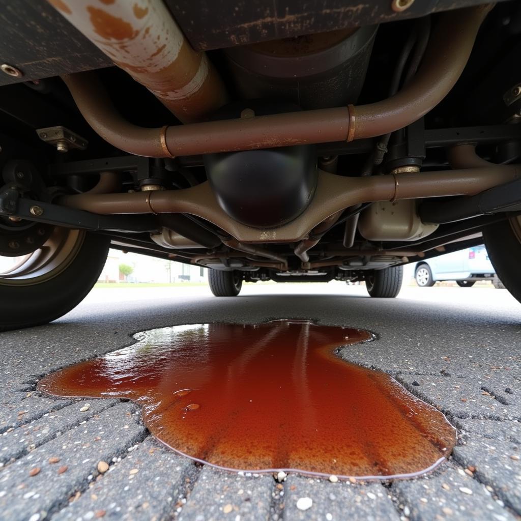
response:
M389 375L340 359L367 331L275 320L144 331L125 349L46 376L57 396L127 398L152 434L194 460L251 472L412 477L456 432Z

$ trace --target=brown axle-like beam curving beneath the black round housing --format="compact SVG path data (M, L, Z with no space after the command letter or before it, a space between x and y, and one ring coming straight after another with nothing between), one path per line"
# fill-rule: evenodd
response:
M219 206L208 182L162 192L66 195L59 197L57 203L102 215L187 213L213 222L243 243L297 242L306 238L309 230L320 222L348 206L420 197L475 195L519 178L521 167L518 165L370 177L342 177L319 171L315 196L306 212L284 226L267 230L250 228L231 219Z

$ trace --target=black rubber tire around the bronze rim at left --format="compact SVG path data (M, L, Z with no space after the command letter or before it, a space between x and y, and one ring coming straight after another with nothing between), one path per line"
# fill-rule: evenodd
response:
M109 241L84 233L75 256L52 278L13 286L0 277L0 331L47 324L76 307L107 259Z

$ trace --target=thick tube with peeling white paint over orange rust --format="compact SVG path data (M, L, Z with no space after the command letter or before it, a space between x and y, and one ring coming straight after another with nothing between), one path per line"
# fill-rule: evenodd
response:
M226 102L217 71L162 0L48 1L183 123L205 119Z

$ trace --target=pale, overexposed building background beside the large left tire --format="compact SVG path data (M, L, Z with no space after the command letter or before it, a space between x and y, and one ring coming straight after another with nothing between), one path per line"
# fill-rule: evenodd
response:
M132 274L121 277L119 265L132 266ZM139 255L123 253L119 250L109 250L107 262L101 272L98 282L206 282L206 269L178 262L166 261Z

